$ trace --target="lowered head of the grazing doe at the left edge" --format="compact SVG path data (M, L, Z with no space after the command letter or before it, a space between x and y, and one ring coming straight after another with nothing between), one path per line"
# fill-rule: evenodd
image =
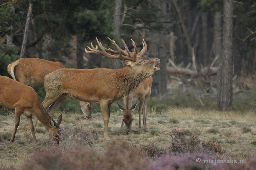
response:
M52 128L48 129L49 131L49 136L54 137L54 140L56 141L57 144L60 143L60 123L62 121L62 115L59 116L57 123L51 119L51 125Z

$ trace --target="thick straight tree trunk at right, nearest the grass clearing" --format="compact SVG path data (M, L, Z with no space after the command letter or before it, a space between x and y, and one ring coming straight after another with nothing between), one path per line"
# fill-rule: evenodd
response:
M217 105L220 110L232 108L232 68L233 68L233 12L234 1L224 0L223 12L223 56L218 71Z

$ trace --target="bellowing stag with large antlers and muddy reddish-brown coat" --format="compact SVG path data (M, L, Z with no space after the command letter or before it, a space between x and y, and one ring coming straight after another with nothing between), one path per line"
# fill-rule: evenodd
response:
M132 41L134 51L129 52L125 42L122 50L116 42L109 39L117 48L117 51L104 48L96 38L101 50L88 47L87 53L95 53L113 59L121 59L126 66L121 69L96 68L90 70L82 69L59 69L47 74L44 78L44 89L46 92L43 101L44 108L60 105L64 99L70 97L75 100L100 103L101 113L104 121L104 137L108 137L108 121L111 104L129 95L145 78L150 77L155 71L160 70L158 58L142 57L147 51L147 44L143 40L143 49L137 54L137 48ZM109 54L108 52L111 54ZM116 55L117 54L117 55ZM58 104L56 104L56 102ZM50 116L54 114L48 110Z

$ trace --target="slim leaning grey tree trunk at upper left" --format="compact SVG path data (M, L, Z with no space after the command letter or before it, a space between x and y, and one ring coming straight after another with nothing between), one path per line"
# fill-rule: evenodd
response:
M27 15L26 25L25 25L25 31L24 31L23 41L22 41L22 45L21 45L21 49L20 49L20 58L25 57L26 46L27 46L27 42L28 42L29 23L30 23L30 18L31 18L31 15L32 15L32 8L33 8L33 3L29 3L28 15Z

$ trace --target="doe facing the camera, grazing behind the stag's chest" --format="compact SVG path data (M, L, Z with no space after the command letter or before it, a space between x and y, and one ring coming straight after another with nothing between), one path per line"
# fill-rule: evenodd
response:
M131 133L132 131L132 121L133 121L133 114L132 112L135 110L137 103L132 106L132 102L139 100L140 106L139 106L139 128L141 128L141 111L142 111L142 105L143 105L143 127L147 127L147 113L148 113L148 100L150 98L151 94L151 86L153 82L153 77L150 76L149 78L146 78L134 91L128 95L123 97L123 104L124 107L118 104L119 108L123 112L123 121L121 128L123 128L124 124L126 126L127 133Z

